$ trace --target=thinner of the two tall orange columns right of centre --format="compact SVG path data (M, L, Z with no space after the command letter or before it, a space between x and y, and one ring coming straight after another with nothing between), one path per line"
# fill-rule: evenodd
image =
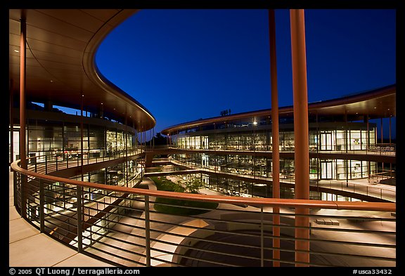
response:
M276 63L276 19L274 10L269 10L269 37L270 37L270 75L271 75L271 159L273 163L273 197L280 198L280 153L278 138L278 88ZM280 208L273 207L273 258L280 259ZM280 262L273 261L273 266L280 266Z

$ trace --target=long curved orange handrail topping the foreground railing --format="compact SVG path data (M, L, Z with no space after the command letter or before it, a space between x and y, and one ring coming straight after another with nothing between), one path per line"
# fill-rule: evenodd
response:
M110 190L112 192L123 192L137 195L148 195L151 197L167 197L172 199L195 200L205 202L217 202L227 204L246 204L246 205L262 205L262 206L279 206L288 208L322 208L322 209L348 209L348 210L363 210L363 211L396 211L396 204L391 202L340 202L326 201L316 199L276 199L262 197L233 197L224 195L200 195L183 192L168 192L161 190L146 190L141 188L129 188L123 186L113 186L101 183L84 182L69 178L61 178L58 176L49 176L27 169L20 168L20 160L16 160L11 164L11 169L23 173L27 176L50 180L54 182L63 182L71 185L82 186L86 188L96 188L102 190Z

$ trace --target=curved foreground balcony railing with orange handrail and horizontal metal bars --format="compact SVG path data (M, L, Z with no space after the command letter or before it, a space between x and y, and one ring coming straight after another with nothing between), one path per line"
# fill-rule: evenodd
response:
M49 176L20 168L19 161L11 168L21 216L63 244L113 265L396 263L394 203L187 194L153 190L149 178L129 188ZM295 225L302 216L309 223ZM296 237L300 229L309 230L309 237ZM296 242L307 242L309 251L295 249ZM309 263L295 258L297 253L308 254Z

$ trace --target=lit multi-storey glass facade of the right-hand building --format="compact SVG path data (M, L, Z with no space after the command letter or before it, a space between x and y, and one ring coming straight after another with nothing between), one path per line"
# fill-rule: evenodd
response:
M310 180L354 180L368 178L377 172L377 162L353 159L324 159L317 152L367 152L375 145L375 124L317 123L309 125ZM280 178L293 182L295 178L295 136L290 121L281 124L279 132ZM175 164L216 172L250 176L252 181L202 176L207 188L227 195L271 196L271 186L260 184L255 178L272 177L271 124L221 124L214 128L188 129L171 136L172 146L196 150L172 155ZM226 152L225 152L226 151ZM231 151L231 152L229 152ZM290 153L290 155L288 155ZM283 190L292 195L293 189ZM315 196L317 197L317 196ZM319 196L320 197L320 196Z

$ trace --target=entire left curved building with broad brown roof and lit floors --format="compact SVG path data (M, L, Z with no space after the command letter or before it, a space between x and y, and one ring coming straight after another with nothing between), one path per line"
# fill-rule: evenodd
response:
M132 187L144 173L144 133L155 126L146 107L105 79L95 56L101 41L136 10L9 10L9 162L66 180ZM15 184L18 213L34 221L39 187ZM26 187L31 188L26 188ZM47 212L75 208L74 185L56 182ZM86 198L105 192L90 189ZM60 201L63 197L64 203ZM60 225L59 225L60 226ZM51 227L47 225L47 227ZM61 227L63 228L63 227ZM60 237L65 230L55 230ZM45 231L46 232L46 231ZM75 239L67 236L65 242Z

